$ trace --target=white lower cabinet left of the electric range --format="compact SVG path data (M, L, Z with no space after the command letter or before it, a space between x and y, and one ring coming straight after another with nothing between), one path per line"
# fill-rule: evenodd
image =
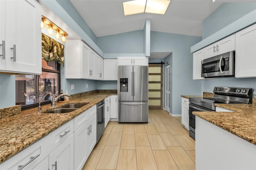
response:
M189 99L182 97L181 101L181 123L189 129Z

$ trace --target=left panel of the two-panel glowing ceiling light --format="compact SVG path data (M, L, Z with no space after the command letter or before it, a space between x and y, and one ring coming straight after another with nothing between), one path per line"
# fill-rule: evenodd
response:
M146 0L132 0L123 2L124 16L140 14L145 11Z

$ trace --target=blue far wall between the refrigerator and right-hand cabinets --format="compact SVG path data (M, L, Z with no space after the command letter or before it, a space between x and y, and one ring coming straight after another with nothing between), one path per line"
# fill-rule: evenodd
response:
M190 53L190 47L200 42L202 38L153 31L151 31L150 38L151 52L172 52L169 61L172 63L170 67L170 91L172 91L170 113L180 115L180 95L201 94L201 82L192 79L193 55Z

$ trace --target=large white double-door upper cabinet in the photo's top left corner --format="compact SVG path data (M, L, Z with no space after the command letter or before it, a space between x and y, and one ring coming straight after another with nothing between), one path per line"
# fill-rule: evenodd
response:
M41 5L36 0L1 0L0 9L0 71L41 74Z

